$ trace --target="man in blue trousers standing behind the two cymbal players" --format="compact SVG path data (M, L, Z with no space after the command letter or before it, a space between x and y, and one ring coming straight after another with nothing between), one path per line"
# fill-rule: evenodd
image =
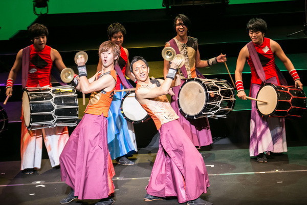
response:
M107 35L109 40L119 46L120 57L118 65L115 70L117 71L117 83L115 90L122 90L124 88L133 88L126 80L125 75L131 80L135 77L131 75L129 70L129 53L128 50L122 47L126 29L119 23L109 25ZM102 62L99 59L97 71L101 70ZM128 69L126 69L128 68ZM128 122L121 114L120 104L126 92L116 92L113 96L112 104L108 113L108 126L107 126L107 143L112 159L120 165L134 165L134 162L129 160L129 156L137 151L136 135L134 127L131 122Z

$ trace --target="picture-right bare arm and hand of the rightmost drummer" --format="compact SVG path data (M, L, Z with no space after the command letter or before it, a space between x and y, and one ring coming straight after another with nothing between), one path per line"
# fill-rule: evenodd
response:
M280 45L275 42L274 40L270 40L270 45L272 52L282 61L283 65L287 68L288 71L294 70L294 66L291 60L284 54L283 50L281 49ZM300 80L295 80L295 84L300 89L303 88L303 84Z

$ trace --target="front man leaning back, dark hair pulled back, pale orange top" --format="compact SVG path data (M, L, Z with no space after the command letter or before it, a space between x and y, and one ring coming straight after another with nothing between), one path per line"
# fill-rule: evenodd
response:
M166 79L151 81L146 60L136 56L131 61L130 71L138 80L136 98L160 133L159 151L144 200L177 196L179 203L209 205L212 203L200 198L210 186L204 159L184 132L166 97L180 63L179 59L172 60Z

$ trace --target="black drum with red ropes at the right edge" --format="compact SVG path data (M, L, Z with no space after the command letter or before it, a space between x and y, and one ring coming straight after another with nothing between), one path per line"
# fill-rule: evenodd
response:
M267 83L259 89L256 108L263 117L297 118L303 115L306 109L306 95L303 90L294 86L278 86Z

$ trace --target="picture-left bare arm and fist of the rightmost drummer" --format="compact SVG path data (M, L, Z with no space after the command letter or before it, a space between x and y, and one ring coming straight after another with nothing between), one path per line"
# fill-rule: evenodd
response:
M246 58L248 58L248 56L249 56L249 52L248 52L247 46L245 46L239 52L236 68L234 71L235 81L242 80L242 72L244 69ZM239 91L237 96L240 99L246 99L246 93L244 90Z

